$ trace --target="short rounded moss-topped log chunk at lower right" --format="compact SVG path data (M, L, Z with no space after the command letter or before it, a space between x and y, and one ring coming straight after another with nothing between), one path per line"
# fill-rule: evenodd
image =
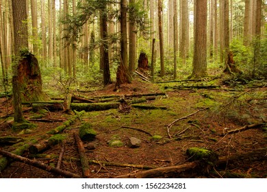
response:
M209 165L216 165L218 162L218 154L208 149L190 147L186 150L186 154L190 158L190 161L199 160Z

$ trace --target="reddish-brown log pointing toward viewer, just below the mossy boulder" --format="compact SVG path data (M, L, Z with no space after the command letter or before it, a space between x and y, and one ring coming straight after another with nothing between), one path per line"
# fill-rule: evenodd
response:
M79 157L81 160L81 169L83 171L83 177L88 178L90 176L90 168L88 165L88 160L86 158L86 151L84 149L84 145L81 141L81 138L79 137L79 134L77 132L74 133L75 141L77 144Z

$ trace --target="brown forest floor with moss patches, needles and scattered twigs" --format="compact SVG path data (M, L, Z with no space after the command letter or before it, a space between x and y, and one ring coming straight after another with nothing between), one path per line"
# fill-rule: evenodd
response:
M209 86L214 84L218 84L219 87ZM81 175L81 163L73 133L78 132L84 122L90 123L92 128L97 131L94 141L84 141L88 160L96 160L89 164L91 178L115 178L127 173L142 171L135 166L110 165L112 163L151 167L183 165L190 160L190 157L186 155L189 147L203 147L212 150L218 154L219 158L238 156L249 152L253 154L257 149L266 149L266 124L234 134L226 134L228 130L266 122L267 88L266 82L261 82L261 84L263 86L257 86L259 85L257 82L252 86L230 87L219 81L152 84L134 80L131 84L121 86L116 92L114 92L114 84L97 91L83 91L82 93L77 91L75 95L88 98L103 95L123 97L126 94L164 92L166 95L157 95L142 105L160 106L166 107L166 109L130 107L123 112L121 108L85 112L62 132L67 139L63 142L64 156L61 169ZM128 103L132 99L136 99L136 97L123 98ZM5 98L1 98L0 103L0 117L2 117L0 119L0 137L16 136L23 139L21 143L15 145L0 143L0 147L9 152L23 145L22 143L42 138L49 130L57 128L64 121L73 117L73 114L66 114L62 110L40 114L40 111L23 106L23 109L29 109L23 112L25 119L31 120L37 125L37 128L28 133L14 132L7 118L3 118L7 109L10 113L12 112L11 99L6 101ZM41 115L40 119L50 119L51 121L34 121L36 115ZM177 122L168 127L175 120ZM155 138L155 135L160 137ZM140 147L129 147L130 137L140 139L142 142ZM124 143L123 146L111 147L108 143L112 139L119 139ZM61 150L62 143L42 152L43 156L32 156L27 150L23 156L55 166ZM0 155L1 158L3 157ZM263 154L261 158L252 155L251 158L236 159L223 167L213 167L208 173L196 170L171 177L267 178L266 160L266 154ZM61 176L14 161L0 172L0 178L61 178Z

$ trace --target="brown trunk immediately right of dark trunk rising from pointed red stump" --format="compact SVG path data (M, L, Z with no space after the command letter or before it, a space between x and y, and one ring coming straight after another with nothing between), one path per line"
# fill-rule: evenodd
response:
M134 8L136 0L129 1L129 73L130 75L136 69L136 37L137 29L136 22L134 20Z

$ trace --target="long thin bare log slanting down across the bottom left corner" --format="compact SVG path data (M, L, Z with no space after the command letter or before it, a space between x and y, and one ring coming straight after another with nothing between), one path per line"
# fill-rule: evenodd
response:
M17 160L21 163L26 163L28 165L32 165L34 167L38 167L44 171L49 171L51 173L55 173L55 174L58 174L60 176L64 176L66 178L81 178L81 176L78 176L77 174L75 173L71 173L69 171L63 171L62 169L58 169L58 168L55 168L55 167L51 167L49 165L45 165L44 163L41 163L37 160L31 160L29 158L25 158L23 156L18 156L16 154L12 154L10 152L7 152L3 149L0 149L0 154L5 156L5 157L8 157L8 158L12 158L14 160Z

